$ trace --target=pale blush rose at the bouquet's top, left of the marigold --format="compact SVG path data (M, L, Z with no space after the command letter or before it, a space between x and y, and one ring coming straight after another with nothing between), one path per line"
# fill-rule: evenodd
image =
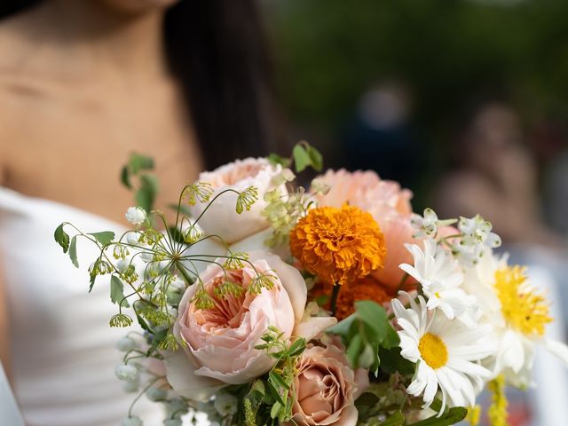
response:
M265 158L247 158L201 173L198 181L213 186L213 197L229 188L241 192L249 186L255 186L258 190L258 200L250 210L241 214L235 211L236 193L221 195L199 220L203 231L207 235L219 235L225 243L233 244L266 229L270 224L261 214L266 207L264 194L274 188L272 179L281 172L280 165L274 166ZM286 191L285 186L280 185L280 190ZM207 205L206 202L197 202L191 206L192 216L199 217Z

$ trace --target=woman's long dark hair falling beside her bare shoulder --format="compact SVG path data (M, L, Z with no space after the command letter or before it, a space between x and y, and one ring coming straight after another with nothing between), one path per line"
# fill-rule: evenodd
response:
M0 19L41 1L2 0ZM164 38L208 168L279 147L255 0L180 0L166 12Z

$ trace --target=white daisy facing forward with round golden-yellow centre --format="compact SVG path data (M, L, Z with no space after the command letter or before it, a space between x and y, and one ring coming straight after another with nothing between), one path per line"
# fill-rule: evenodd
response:
M475 406L477 392L481 390L491 372L477 364L493 353L483 338L491 327L468 328L461 321L447 319L429 312L426 301L418 296L419 304L408 297L410 309L398 299L392 300L392 310L401 328L400 354L418 363L413 382L406 392L420 396L424 406L430 406L438 389L442 394L442 413L448 406Z

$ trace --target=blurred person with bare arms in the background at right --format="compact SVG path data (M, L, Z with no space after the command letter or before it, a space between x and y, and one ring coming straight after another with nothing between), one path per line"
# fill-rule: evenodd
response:
M435 204L442 217L479 212L505 242L561 244L541 216L536 162L509 106L482 106L455 154L454 170L436 185Z

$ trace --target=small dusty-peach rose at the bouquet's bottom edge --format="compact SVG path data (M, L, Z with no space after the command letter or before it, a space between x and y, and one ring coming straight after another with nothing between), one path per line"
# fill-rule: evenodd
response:
M300 426L354 426L357 389L343 351L334 344L309 348L297 364L293 421ZM288 422L291 424L295 423Z

